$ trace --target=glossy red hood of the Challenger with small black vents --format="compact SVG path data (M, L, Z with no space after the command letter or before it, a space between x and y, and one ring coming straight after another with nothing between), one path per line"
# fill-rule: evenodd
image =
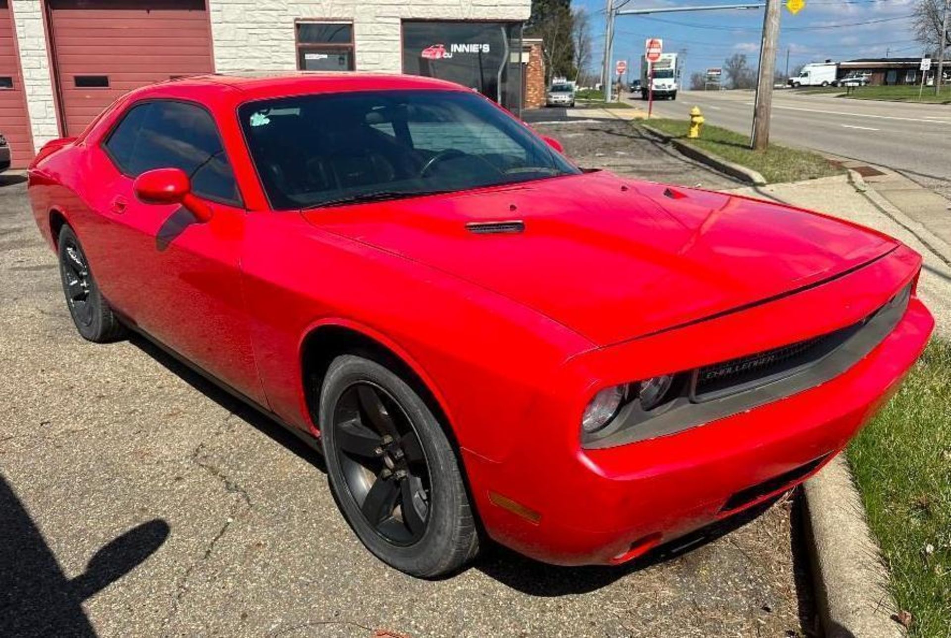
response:
M303 214L494 290L598 345L782 296L896 246L817 213L609 172ZM500 221L524 228L471 228Z

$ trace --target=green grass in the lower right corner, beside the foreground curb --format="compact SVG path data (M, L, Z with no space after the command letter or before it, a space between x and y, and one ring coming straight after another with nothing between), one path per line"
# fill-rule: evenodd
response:
M847 452L914 636L951 636L951 342L934 340Z

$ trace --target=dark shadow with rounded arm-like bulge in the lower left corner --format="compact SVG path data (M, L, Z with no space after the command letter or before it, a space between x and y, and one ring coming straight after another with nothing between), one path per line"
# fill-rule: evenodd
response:
M94 636L83 601L162 547L169 527L154 519L131 528L68 578L12 486L0 475L0 635Z

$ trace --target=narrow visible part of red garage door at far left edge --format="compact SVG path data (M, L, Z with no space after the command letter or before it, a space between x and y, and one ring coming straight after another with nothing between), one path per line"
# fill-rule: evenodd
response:
M10 141L12 166L26 167L33 157L33 141L7 0L0 0L0 133Z

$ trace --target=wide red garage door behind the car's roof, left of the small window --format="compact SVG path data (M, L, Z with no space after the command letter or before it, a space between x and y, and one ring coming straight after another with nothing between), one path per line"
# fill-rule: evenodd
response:
M60 115L76 135L128 90L210 73L204 0L51 0Z

